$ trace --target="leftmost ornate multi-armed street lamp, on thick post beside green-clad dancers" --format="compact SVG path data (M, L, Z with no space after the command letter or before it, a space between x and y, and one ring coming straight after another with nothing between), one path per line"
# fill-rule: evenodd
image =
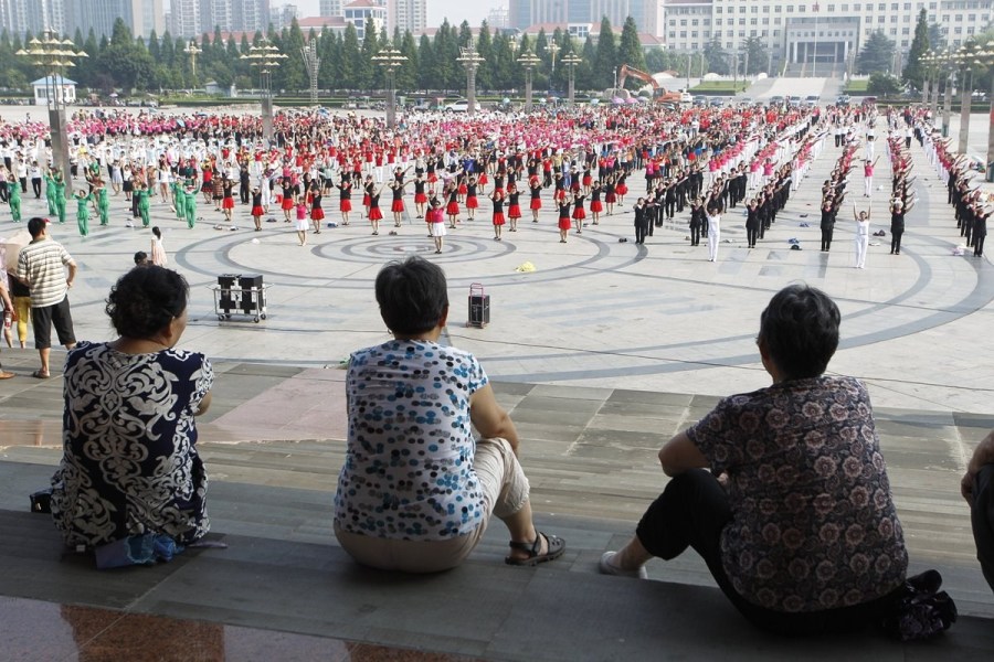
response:
M73 180L70 177L68 138L65 132L65 71L76 66L76 60L88 55L76 51L72 40L60 40L54 30L45 30L41 36L32 39L28 47L15 55L27 57L44 73L52 159L62 171L65 194L70 196L73 194Z

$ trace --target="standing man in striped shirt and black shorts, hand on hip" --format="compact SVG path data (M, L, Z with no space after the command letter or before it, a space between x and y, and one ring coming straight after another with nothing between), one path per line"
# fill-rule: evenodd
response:
M73 279L76 277L76 263L62 244L49 237L46 220L38 216L31 218L28 232L31 233L31 243L18 255L18 278L31 290L34 346L41 356L41 367L32 376L47 380L52 374L49 370L52 325L55 325L59 342L65 349L71 350L76 345L68 303L68 289L73 287Z

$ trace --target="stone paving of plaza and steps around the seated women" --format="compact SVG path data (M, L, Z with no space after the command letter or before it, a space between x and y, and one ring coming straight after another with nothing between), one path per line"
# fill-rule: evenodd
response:
M987 258L951 255L959 234L944 188L917 146L913 153L920 200L902 255L888 255L886 237L870 247L864 270L853 268L845 211L833 250L817 249L818 189L838 154L831 145L757 249L743 247L743 218L726 214L728 243L715 264L705 246L689 246L683 220L656 228L644 246L632 243L624 212L634 197L565 245L551 211L499 243L488 213L473 222L463 216L441 256L410 217L396 236L385 234L388 221L373 237L353 214L351 226L322 228L300 247L282 221L248 229L245 207L236 209L239 229L218 231L220 214L202 204L204 220L192 229L154 205L171 265L191 284L181 346L207 353L218 373L200 447L213 481L212 537L230 548L109 574L64 556L50 522L24 512L27 493L45 484L59 460L61 378L31 378L35 352L4 349L4 367L18 373L0 382L0 558L8 569L0 629L13 642L10 659L74 659L73 651L140 659L135 642L161 652L172 651L175 640L187 648L161 659L987 655L994 606L958 488L972 445L994 427L992 267ZM886 168L879 171L886 186ZM634 194L641 183L631 180ZM849 190L850 203L863 207L858 173ZM875 225L886 227L886 189L871 204ZM43 211L30 197L25 207L29 215ZM337 220L335 201L326 211ZM110 226L87 238L72 220L53 228L81 266L72 292L81 339L112 338L103 300L134 252L148 249L149 233L126 227L129 220L117 197ZM4 218L0 236L12 227ZM791 237L802 250L789 249ZM431 579L357 572L335 543L330 501L345 439L340 362L387 338L372 278L385 261L410 254L437 259L448 275L453 309L444 340L480 357L510 409L525 440L537 522L570 545L560 562L504 568L499 525L465 567ZM536 271L515 271L525 261ZM209 288L225 273L262 274L272 285L265 321L218 320ZM717 396L769 383L753 342L759 313L795 280L838 302L843 343L829 367L869 384L912 568L941 568L964 615L931 647L867 636L822 642L813 652L771 640L740 622L692 554L651 564L652 583L596 575L600 554L631 534L664 484L658 447ZM491 297L484 329L464 325L475 282ZM53 365L60 360L56 352ZM705 611L710 619L699 618ZM187 634L168 634L177 629Z

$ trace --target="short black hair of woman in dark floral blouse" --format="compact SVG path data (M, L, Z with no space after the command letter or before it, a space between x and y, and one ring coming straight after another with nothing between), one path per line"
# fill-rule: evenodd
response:
M807 285L789 285L760 316L759 342L787 380L816 377L838 348L840 321L828 295Z

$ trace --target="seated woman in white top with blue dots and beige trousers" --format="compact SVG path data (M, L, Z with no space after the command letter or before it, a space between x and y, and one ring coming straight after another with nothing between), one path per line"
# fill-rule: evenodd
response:
M518 435L486 373L468 352L438 344L445 274L412 257L385 266L376 291L394 339L349 363L338 542L362 565L435 573L466 558L496 515L510 532L508 564L561 556L563 541L535 530Z

